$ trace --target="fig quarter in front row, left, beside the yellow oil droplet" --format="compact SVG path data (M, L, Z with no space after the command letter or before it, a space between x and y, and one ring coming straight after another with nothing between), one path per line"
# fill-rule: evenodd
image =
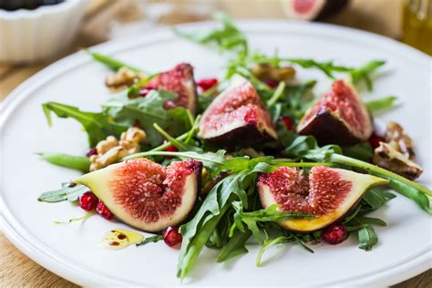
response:
M201 189L202 163L193 159L165 167L132 159L87 173L86 185L121 221L142 231L161 231L183 221Z

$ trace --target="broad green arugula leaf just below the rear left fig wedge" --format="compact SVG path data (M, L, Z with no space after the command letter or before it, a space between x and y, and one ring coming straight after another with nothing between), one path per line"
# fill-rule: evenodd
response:
M103 108L105 113L121 125L131 127L138 120L146 131L146 140L154 147L163 140L163 137L154 128L154 123L176 136L190 129L190 121L185 108L169 110L163 108L165 101L174 98L177 98L176 94L163 90L152 90L145 98L129 98L128 92L121 92L109 98L103 104Z

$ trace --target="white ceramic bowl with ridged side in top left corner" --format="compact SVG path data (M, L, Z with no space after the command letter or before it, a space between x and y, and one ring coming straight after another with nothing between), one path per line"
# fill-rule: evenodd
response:
M0 10L0 62L34 62L70 45L84 15L86 0L67 0L35 10Z

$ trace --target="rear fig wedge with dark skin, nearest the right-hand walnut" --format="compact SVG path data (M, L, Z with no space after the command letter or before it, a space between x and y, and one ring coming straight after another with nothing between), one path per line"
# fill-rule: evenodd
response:
M370 115L355 87L337 80L332 90L300 121L297 132L314 135L320 145L354 145L369 139L373 131Z

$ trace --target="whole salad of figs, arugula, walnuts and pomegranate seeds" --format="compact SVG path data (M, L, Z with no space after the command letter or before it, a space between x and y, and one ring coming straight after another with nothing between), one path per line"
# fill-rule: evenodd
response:
M372 250L374 227L386 221L367 215L396 193L432 212L432 191L415 181L422 169L412 139L395 122L374 125L374 113L393 108L396 98L360 97L385 61L349 67L252 52L228 16L216 18L221 26L210 31L174 32L226 56L221 78L195 79L187 63L153 73L86 51L113 70L111 93L99 112L43 104L49 125L52 114L77 120L89 150L39 153L84 174L38 201L70 201L87 211L68 222L98 214L136 229L110 231L107 246L129 240L180 248L181 279L204 247L226 262L248 252L246 243L259 244L257 266L282 243L314 252L317 242L353 235L360 249ZM333 81L323 95L314 93L319 79L297 79L309 69Z

